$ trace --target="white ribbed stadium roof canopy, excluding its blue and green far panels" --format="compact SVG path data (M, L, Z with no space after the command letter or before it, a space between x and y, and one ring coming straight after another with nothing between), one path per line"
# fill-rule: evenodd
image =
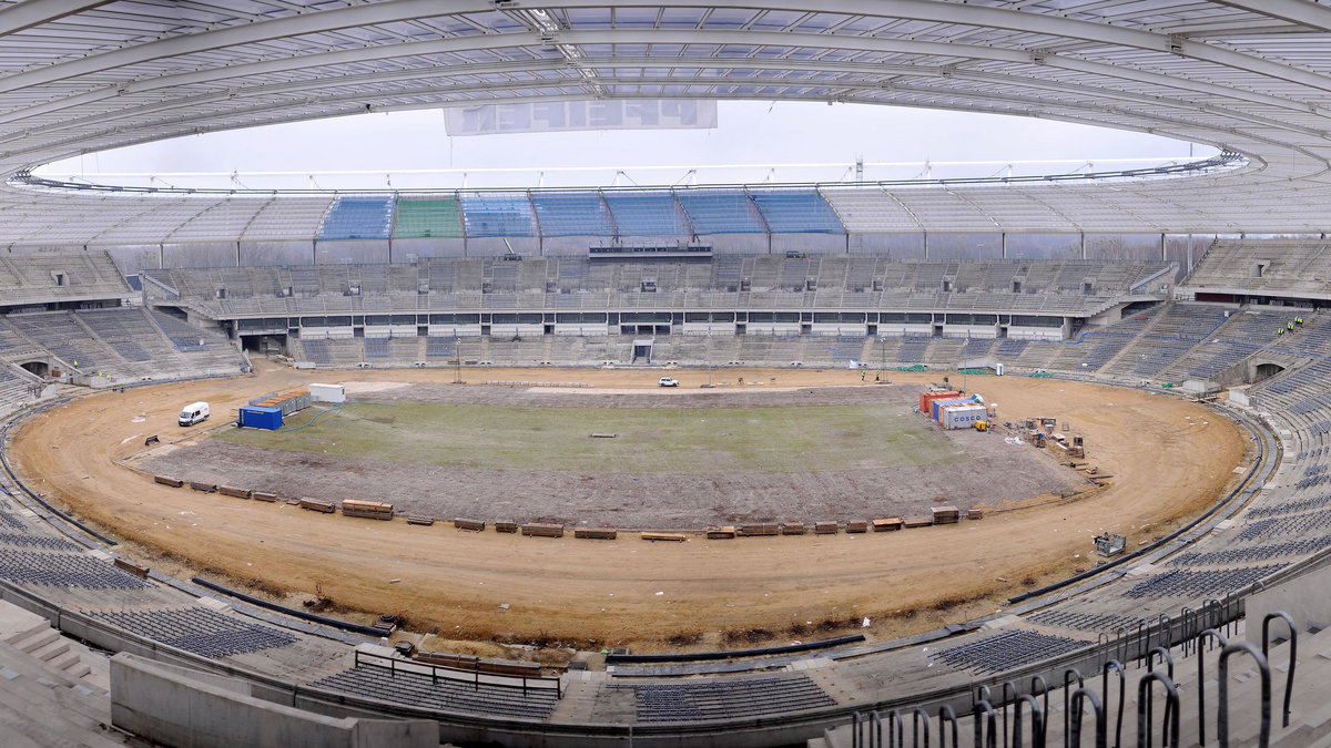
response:
M989 112L1142 130L1246 157L1182 177L827 188L862 193L868 214L905 216L882 224L885 232L1320 233L1331 222L1331 7L1302 0L0 7L8 177L75 154L234 128L600 97ZM938 208L904 209L894 197L902 189L933 190ZM0 242L238 241L274 200L80 193L11 180L0 190ZM200 221L213 229L192 232Z

